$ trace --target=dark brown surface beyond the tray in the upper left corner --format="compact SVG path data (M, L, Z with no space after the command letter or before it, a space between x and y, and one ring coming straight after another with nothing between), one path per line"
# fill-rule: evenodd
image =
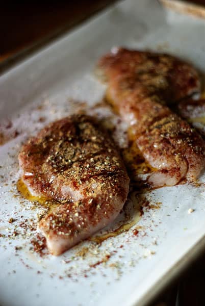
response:
M8 1L0 9L0 63L38 47L116 0Z

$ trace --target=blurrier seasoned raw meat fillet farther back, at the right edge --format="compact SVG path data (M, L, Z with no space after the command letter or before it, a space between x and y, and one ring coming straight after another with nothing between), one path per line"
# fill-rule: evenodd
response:
M103 57L98 69L108 82L107 100L130 124L132 139L156 169L149 183L172 186L198 177L205 164L204 141L165 106L199 90L196 71L168 55L126 49Z

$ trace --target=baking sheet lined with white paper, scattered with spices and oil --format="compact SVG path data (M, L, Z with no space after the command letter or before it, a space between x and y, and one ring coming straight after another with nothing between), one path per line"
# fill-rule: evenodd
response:
M147 193L151 208L130 231L101 245L83 242L57 258L31 249L41 208L16 191L21 142L84 101L92 107L101 100L105 86L93 70L102 54L114 45L163 50L205 72L204 25L157 1L123 1L1 76L0 122L8 140L0 149L1 305L143 305L204 244L205 175L198 186Z

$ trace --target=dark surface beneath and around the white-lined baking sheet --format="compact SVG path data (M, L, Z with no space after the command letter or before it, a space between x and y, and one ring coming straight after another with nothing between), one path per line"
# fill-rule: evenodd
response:
M0 10L0 65L38 48L115 0L8 1ZM192 1L205 5L205 0ZM205 31L205 30L204 30ZM150 305L205 306L205 256L200 258ZM177 301L176 301L177 300Z

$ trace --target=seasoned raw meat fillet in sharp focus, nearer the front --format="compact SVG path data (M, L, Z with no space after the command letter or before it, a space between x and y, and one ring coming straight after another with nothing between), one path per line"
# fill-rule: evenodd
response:
M54 255L112 222L129 191L130 180L115 144L85 115L46 126L22 146L19 165L33 195L59 203L39 221Z

